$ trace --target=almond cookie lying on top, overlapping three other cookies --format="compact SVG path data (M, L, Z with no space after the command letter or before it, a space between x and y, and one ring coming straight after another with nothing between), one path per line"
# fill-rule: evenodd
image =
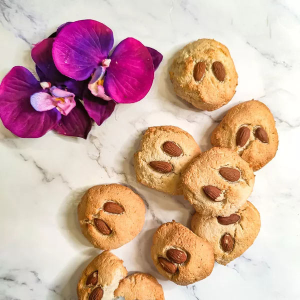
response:
M227 216L246 202L254 174L235 151L212 147L194 159L182 180L184 198L196 211Z

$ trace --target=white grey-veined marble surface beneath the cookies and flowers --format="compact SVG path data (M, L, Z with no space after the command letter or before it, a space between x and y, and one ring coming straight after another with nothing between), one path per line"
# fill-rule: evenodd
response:
M88 186L120 182L145 200L142 232L114 250L128 270L149 272L170 299L300 298L300 3L296 0L0 0L0 77L14 65L33 69L32 44L59 24L99 20L118 42L133 36L163 55L151 91L135 104L118 105L93 126L88 139L47 133L20 139L0 124L0 299L76 299L80 272L99 250L76 221L76 204ZM173 53L189 41L214 38L229 48L238 73L233 99L214 112L197 111L172 91ZM250 201L261 214L254 244L227 266L189 286L166 281L150 258L152 234L162 222L189 225L192 209L135 181L132 155L142 132L171 124L191 133L202 150L225 111L259 99L274 114L276 157L256 172Z

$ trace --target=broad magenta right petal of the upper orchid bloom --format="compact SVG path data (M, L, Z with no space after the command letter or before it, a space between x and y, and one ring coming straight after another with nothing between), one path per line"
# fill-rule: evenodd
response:
M149 91L154 77L151 55L138 40L122 40L110 56L106 69L104 89L118 103L133 103Z

